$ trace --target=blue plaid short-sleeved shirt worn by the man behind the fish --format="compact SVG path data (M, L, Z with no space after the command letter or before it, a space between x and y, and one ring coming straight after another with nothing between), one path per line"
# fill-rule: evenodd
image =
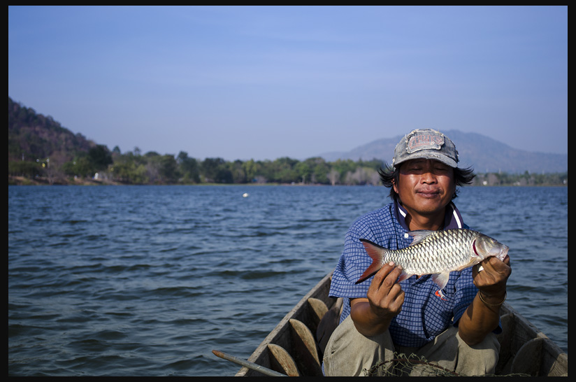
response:
M409 246L412 237L408 236L405 215L405 209L394 201L363 215L348 230L330 287L331 297L344 297L340 323L350 315L350 299L365 298L373 279L370 277L363 283L354 284L372 263L359 239L368 239L394 250ZM452 203L446 207L444 227L468 228ZM392 341L398 346L424 346L449 325L457 325L478 291L472 280L471 267L450 272L442 298L431 275L411 276L400 285L405 293L404 304L389 326Z

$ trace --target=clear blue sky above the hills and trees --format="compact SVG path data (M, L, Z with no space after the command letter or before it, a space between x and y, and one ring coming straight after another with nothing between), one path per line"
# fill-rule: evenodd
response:
M420 127L568 153L568 7L8 6L8 97L123 153L303 160Z

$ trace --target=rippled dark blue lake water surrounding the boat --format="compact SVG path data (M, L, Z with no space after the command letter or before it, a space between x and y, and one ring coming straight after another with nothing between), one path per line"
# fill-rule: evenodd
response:
M243 197L247 192L249 195ZM8 375L232 376L384 187L8 186ZM568 352L568 188L467 187L507 301Z

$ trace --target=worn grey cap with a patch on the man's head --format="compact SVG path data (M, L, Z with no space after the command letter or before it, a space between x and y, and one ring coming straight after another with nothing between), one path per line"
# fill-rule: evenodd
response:
M417 129L406 134L394 149L392 164L398 167L402 162L419 158L438 160L449 167L458 166L454 142L434 129Z

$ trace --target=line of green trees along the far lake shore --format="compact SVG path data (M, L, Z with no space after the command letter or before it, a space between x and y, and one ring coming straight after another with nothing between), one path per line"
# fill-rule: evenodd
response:
M96 179L101 183L125 185L149 184L314 184L314 185L380 185L378 170L381 160L336 160L322 157L296 160L234 160L208 157L198 160L180 151L178 155L161 155L154 151L142 154L138 148L121 153L96 145L78 153L64 163L49 158L10 161L8 175L46 178L49 183L73 183L78 179ZM477 174L474 185L567 185L563 174Z

